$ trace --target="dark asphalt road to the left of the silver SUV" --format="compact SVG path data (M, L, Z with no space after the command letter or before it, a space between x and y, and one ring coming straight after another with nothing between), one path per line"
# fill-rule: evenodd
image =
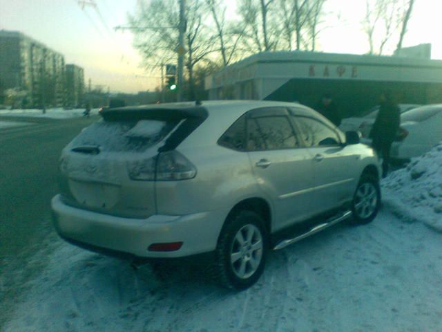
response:
M40 249L39 244L52 232L50 199L57 194L61 149L97 117L68 120L0 117L0 120L3 124L12 120L32 122L25 127L0 129L1 299L3 295L15 297L20 280L31 277L15 277L15 270L28 263L33 252Z

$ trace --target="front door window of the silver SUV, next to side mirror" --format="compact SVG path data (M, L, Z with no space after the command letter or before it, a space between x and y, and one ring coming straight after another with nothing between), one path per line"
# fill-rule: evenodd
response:
M296 116L294 117L294 120L302 131L301 136L307 147L340 144L338 133L332 128L327 127L323 122L314 118L305 118L303 116Z

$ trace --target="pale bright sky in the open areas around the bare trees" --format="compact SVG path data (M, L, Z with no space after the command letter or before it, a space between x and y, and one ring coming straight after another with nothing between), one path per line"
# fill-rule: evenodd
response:
M127 12L134 12L137 0L95 0L101 15L90 6L82 10L78 2L0 0L0 29L19 30L62 53L66 63L84 68L86 84L90 77L93 85L110 86L111 91L155 89L160 78L140 68L131 33L113 29L126 24ZM361 32L365 0L328 0L326 10L332 15L320 35L320 50L367 53ZM416 0L403 46L432 43L432 57L442 59L441 12L441 0Z

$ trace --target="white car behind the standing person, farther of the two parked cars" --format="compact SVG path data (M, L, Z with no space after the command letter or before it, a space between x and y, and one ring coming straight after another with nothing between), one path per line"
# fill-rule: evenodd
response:
M421 105L418 104L398 104L399 111L405 113L410 111L410 109L415 109ZM346 118L341 122L339 129L343 132L346 131L360 131L362 137L367 138L369 136L370 131L372 131L372 127L374 121L376 120L376 116L378 116L379 105L376 105L372 109L369 110L367 115L361 116L360 118Z

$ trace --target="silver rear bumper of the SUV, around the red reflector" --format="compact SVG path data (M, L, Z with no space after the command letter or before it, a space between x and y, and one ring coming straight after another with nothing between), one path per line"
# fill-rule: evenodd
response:
M171 258L215 250L227 212L218 210L185 216L154 215L129 219L90 212L64 204L59 195L51 202L60 237L82 248L110 255ZM154 252L153 243L183 242L176 251Z

